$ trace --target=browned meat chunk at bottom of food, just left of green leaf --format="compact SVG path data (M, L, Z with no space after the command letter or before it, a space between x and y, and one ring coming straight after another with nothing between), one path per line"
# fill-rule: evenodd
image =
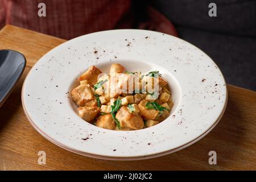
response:
M97 118L96 126L102 127L104 129L114 130L115 122L111 114L100 115Z

